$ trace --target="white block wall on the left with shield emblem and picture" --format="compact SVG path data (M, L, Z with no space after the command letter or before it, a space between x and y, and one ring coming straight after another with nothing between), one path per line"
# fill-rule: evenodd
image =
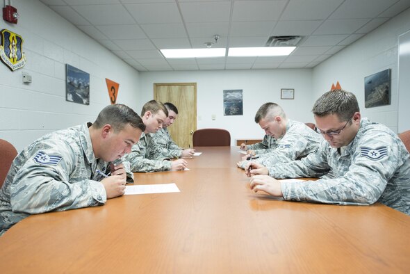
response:
M117 103L136 108L138 72L40 1L13 1L18 24L0 29L22 36L27 63L11 72L0 63L0 138L21 151L50 131L91 121L110 104L105 79L120 83ZM90 74L90 105L65 101L65 64ZM22 72L33 82L22 83Z

